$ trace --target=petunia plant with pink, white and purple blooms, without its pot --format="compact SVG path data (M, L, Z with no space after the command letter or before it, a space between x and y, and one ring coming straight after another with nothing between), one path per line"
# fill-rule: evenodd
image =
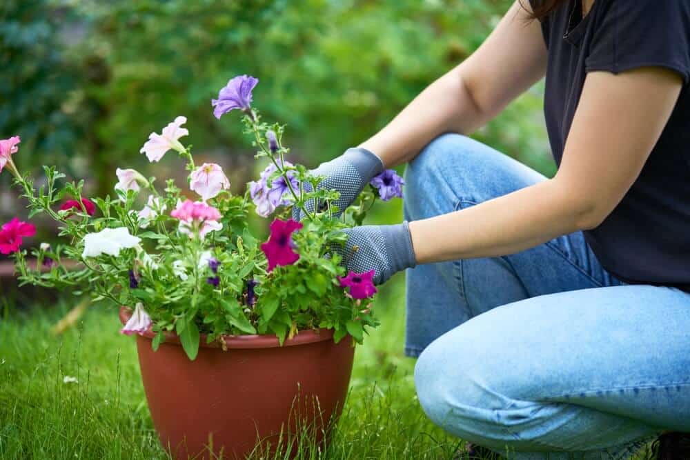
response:
M337 209L337 191L317 188L322 177L286 160L284 126L262 121L251 106L257 83L235 77L212 101L219 119L242 112L255 157L268 161L244 194L230 192L219 165L195 164L181 141L189 136L185 117L151 133L141 148L150 162L175 152L188 171L181 188L173 179L159 185L155 177L118 168L112 196L86 197L84 181L66 182L54 167L43 168L46 177L36 188L12 161L19 137L0 140L0 171L14 175L30 218L43 213L59 223L62 241L28 251L20 246L34 236L34 226L15 218L0 227L0 253L12 254L21 283L88 290L96 300L129 306L132 316L121 332L153 332L154 349L174 332L190 359L202 334L222 346L226 335L275 334L283 343L302 330L328 328L335 341L351 334L361 343L365 328L377 324L373 273L346 273L333 249L377 197L401 196L402 179L386 170L353 205ZM273 218L267 241L248 226L252 208ZM296 208L302 221L292 218ZM37 259L36 268L28 257Z

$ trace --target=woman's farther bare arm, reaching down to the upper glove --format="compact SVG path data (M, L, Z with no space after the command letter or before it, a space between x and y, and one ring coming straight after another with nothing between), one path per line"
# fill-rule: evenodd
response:
M530 8L523 0L524 8ZM380 132L360 144L386 168L413 159L444 132L470 134L544 76L539 21L516 0L468 59L422 91Z

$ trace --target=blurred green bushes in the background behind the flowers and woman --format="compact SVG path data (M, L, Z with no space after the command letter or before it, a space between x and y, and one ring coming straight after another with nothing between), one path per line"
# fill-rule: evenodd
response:
M288 123L288 145L315 166L469 56L509 3L6 0L0 134L22 136L21 166L71 166L104 192L116 166L144 163L150 132L184 114L195 152L241 171L241 186L250 146L210 107L230 77L259 78L256 106ZM540 86L476 137L553 172Z

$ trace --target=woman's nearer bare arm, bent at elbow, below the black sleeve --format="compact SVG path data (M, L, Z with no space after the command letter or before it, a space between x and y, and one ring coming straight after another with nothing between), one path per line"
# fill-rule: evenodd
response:
M409 223L417 263L512 254L597 227L640 174L681 86L658 67L587 74L555 177Z

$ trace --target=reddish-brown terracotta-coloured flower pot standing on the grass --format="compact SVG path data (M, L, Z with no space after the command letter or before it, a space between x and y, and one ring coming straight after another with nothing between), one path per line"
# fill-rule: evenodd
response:
M126 323L132 310L120 309ZM150 330L137 335L141 379L156 431L176 459L210 452L244 458L255 446L305 428L317 442L342 410L355 349L329 330L304 331L279 346L275 336L226 337L224 351L201 336L190 361L175 334L154 352Z

